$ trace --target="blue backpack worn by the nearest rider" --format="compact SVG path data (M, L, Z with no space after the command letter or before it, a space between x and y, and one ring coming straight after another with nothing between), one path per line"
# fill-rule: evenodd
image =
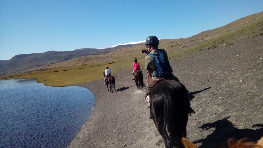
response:
M171 72L171 68L169 65L168 60L165 58L165 56L162 54L162 49L160 49L160 55L154 55L152 53L148 54L149 56L155 58L155 65L157 68L157 73L154 72L157 76L165 77Z

